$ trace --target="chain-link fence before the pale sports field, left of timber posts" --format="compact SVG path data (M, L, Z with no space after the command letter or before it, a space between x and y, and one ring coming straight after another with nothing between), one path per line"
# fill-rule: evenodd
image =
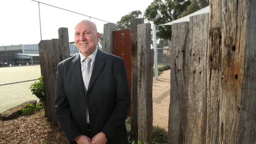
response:
M38 44L0 46L0 113L37 100L29 87L41 76Z

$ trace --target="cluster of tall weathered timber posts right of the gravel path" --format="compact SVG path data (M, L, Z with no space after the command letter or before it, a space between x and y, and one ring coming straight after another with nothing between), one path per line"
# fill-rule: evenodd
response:
M174 24L168 144L256 143L256 2Z

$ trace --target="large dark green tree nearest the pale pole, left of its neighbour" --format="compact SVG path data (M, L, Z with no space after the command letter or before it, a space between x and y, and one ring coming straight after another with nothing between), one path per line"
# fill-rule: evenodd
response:
M165 24L178 18L187 6L189 0L154 0L146 9L144 17L155 25ZM162 39L171 39L171 26L158 26L156 35Z

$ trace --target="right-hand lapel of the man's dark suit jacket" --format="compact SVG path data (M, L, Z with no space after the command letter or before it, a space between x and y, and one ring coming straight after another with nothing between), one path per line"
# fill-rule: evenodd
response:
M97 51L96 57L95 57L95 62L93 65L93 71L91 74L91 78L90 78L90 82L89 82L89 86L88 86L88 90L90 90L91 86L93 85L93 83L95 82L96 78L98 77L98 75L100 74L100 71L102 70L102 68L105 65L105 56L104 53L101 52L99 49Z

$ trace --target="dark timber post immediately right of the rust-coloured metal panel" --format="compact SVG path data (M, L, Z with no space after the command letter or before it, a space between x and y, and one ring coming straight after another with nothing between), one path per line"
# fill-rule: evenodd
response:
M131 106L131 134L132 137L138 138L138 66L137 66L137 25L143 24L143 18L135 18L131 20L130 24L130 38L131 38L131 61L132 61L132 106Z

